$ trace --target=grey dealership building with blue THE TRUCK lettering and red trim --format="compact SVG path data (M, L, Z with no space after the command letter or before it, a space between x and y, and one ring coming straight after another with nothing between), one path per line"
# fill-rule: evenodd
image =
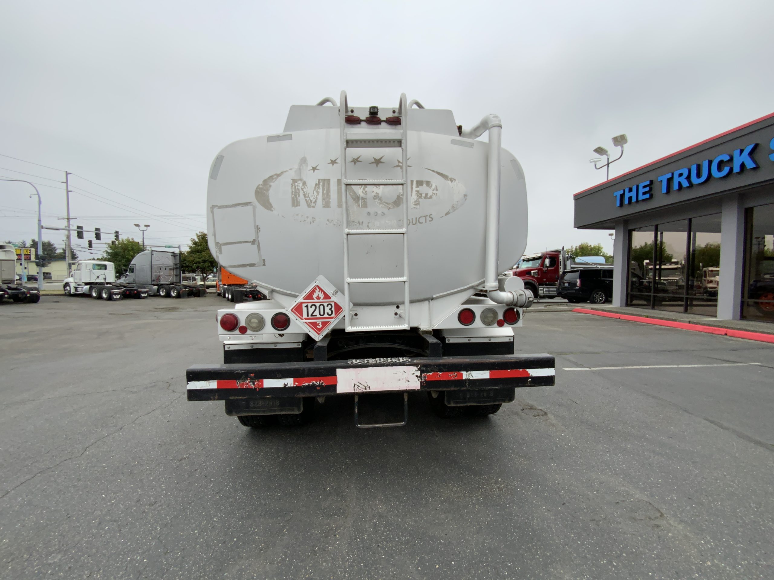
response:
M615 230L613 305L774 322L774 114L574 196Z

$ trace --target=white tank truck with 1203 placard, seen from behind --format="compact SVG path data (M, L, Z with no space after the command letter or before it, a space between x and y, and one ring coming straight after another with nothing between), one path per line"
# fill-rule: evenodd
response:
M405 94L392 107L354 107L343 91L339 102L290 107L282 133L215 157L211 252L267 300L217 312L224 364L187 371L189 401L225 401L259 427L354 394L365 426L358 405L384 392L402 401L389 423L402 425L409 391L447 417L553 385L553 357L514 354L532 294L498 279L527 234L524 174L500 146L500 119L463 131Z

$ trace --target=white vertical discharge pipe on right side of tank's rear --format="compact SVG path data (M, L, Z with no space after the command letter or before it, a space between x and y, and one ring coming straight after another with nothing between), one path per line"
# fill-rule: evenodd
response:
M462 131L461 136L475 139L489 131L489 162L487 168L486 197L486 256L484 289L495 304L529 307L533 295L529 290L512 292L499 289L497 258L500 242L500 143L502 142L502 121L496 114L488 114L473 128Z

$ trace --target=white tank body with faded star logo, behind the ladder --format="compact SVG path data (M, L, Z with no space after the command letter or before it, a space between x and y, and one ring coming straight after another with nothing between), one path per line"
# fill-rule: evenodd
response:
M217 155L207 229L221 266L286 295L302 292L317 275L341 289L344 195L349 227L402 227L402 186L341 184L342 162L347 179L401 179L400 148L348 148L341 159L339 122L336 107L291 107L285 133L234 142ZM461 138L450 111L412 109L408 128L410 299L472 293L485 274L488 145ZM348 133L389 130L400 128L363 125ZM521 257L527 236L524 175L505 149L501 183L498 269L505 271ZM350 236L350 276L405 275L399 238ZM355 304L392 301L378 285L358 291Z

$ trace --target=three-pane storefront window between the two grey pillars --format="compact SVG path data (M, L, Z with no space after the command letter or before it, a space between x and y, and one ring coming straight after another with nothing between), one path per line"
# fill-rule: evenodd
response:
M629 232L626 304L717 316L721 215Z

